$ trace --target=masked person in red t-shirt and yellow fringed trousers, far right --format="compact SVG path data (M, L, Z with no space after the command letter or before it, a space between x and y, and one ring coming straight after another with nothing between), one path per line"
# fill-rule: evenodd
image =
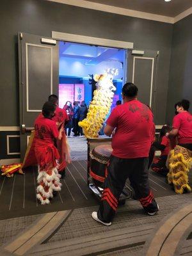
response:
M178 194L191 191L188 172L192 164L192 115L189 105L189 100L185 99L175 104L178 114L173 118L172 131L166 134L171 140L178 140L178 145L170 152L167 176Z

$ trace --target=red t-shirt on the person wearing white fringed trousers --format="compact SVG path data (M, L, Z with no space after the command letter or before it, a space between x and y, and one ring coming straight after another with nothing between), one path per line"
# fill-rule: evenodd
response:
M53 143L54 138L58 138L59 132L56 126L56 122L49 118L45 118L43 115L38 115L35 120L35 139L38 141L44 141L47 144Z

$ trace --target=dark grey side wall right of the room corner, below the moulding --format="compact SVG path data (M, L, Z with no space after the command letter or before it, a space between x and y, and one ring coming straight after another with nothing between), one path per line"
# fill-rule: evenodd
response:
M172 123L174 105L181 99L192 104L192 15L173 26L172 58L168 88L167 122ZM190 108L192 110L192 106Z

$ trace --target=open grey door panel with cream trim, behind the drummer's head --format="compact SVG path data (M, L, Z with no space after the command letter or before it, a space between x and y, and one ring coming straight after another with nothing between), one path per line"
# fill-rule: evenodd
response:
M159 52L128 51L127 52L127 82L138 87L138 99L152 108L154 112L156 74Z

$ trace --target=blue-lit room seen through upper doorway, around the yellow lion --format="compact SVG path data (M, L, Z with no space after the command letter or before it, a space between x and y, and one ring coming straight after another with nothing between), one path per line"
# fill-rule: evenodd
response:
M113 106L121 100L122 85L125 82L126 50L98 45L60 42L59 61L59 104L63 108L67 101L90 104L95 89L93 75L104 74L108 68L118 69L113 77L116 87Z

